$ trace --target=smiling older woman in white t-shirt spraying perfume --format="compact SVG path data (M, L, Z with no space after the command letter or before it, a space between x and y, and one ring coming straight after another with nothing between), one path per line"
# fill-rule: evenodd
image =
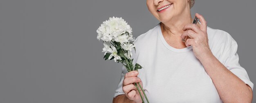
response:
M208 27L198 13L200 22L192 24L194 0L146 4L160 22L135 40L132 58L144 68L138 74L122 67L113 103L142 103L133 83L143 83L151 103L252 102L254 84L238 63L236 40L226 31Z

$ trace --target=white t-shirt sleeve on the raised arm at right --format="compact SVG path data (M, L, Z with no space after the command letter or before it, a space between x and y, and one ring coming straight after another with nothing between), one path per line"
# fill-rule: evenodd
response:
M245 84L248 84L253 90L254 84L250 81L246 70L238 63L239 57L237 54L237 48L238 45L236 42L233 42L232 44L229 43L227 45L227 48L222 55L222 59L224 59L223 65L225 65L227 69L229 69L233 74L245 82Z

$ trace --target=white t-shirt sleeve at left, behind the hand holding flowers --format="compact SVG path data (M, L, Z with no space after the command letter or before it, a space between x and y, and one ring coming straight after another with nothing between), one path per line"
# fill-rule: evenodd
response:
M117 85L117 89L115 90L114 98L117 97L118 95L124 94L123 91L123 81L124 81L124 75L128 73L126 70L126 67L124 65L122 66L122 73L121 73L121 79Z

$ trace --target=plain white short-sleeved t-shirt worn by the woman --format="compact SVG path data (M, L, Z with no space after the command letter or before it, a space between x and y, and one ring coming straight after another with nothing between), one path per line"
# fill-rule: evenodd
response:
M160 24L160 23L159 23ZM150 103L223 103L210 76L194 56L192 46L176 49L168 45L157 24L136 38L133 63ZM238 63L237 43L225 31L207 27L213 55L242 81L252 87L246 70ZM128 71L123 66L114 97L124 94L122 83ZM146 99L144 98L144 101Z

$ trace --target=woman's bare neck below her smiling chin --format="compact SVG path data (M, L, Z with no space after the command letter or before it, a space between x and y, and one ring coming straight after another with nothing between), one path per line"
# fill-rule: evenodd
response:
M181 36L184 32L182 28L192 22L193 18L191 18L190 11L184 11L179 17L172 18L168 22L161 22L160 26L162 32L166 32L168 36Z

